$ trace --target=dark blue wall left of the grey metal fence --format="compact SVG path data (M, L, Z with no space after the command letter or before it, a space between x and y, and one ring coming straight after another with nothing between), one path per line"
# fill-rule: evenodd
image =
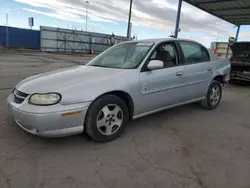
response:
M40 49L40 31L8 27L9 47ZM0 46L6 46L6 27L0 26Z

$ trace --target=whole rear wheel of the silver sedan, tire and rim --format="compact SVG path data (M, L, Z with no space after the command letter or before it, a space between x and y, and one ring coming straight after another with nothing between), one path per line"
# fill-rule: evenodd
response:
M213 110L220 104L221 97L221 83L217 80L213 80L208 88L206 98L201 102L201 105L205 109Z

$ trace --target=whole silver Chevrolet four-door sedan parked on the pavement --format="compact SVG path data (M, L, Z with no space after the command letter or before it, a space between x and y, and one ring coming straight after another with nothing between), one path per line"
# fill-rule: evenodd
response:
M201 44L155 39L117 44L86 66L35 75L9 95L9 110L25 131L45 137L87 133L117 138L129 120L199 102L215 109L230 63Z

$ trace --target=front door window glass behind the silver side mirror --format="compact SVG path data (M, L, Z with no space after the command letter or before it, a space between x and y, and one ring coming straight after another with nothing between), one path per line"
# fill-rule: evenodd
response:
M155 49L150 60L162 61L164 63L164 68L175 66L177 64L177 53L174 44L161 44Z

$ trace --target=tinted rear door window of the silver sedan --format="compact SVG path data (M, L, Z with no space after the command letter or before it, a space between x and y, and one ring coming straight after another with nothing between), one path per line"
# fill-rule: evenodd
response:
M199 44L192 42L180 42L185 64L202 63L210 61L207 50Z

